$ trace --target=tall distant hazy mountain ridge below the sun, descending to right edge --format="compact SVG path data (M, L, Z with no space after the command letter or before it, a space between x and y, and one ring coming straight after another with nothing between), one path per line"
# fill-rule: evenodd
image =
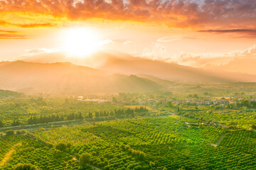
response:
M233 82L233 81L256 81L256 75L227 72L212 69L199 69L183 66L180 64L149 60L143 57L133 57L122 52L105 50L97 52L90 57L73 58L65 57L61 52L45 55L36 55L23 58L29 62L72 62L83 66L94 67L106 72L119 74L147 74L159 79L183 82Z

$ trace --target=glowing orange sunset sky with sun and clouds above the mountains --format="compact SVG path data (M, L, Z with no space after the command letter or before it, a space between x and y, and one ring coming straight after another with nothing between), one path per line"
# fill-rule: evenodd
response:
M256 74L255 45L255 0L0 0L0 61L117 50Z

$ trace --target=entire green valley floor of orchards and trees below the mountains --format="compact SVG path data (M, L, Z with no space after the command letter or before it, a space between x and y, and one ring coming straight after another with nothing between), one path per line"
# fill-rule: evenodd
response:
M173 85L1 99L0 169L255 169L254 86Z

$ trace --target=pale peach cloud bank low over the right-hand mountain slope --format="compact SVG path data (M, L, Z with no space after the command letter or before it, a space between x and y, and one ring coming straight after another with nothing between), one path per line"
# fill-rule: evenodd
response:
M245 50L235 50L220 54L182 52L176 56L176 59L171 58L168 62L176 62L192 67L256 74L256 45L252 45L252 47L248 47Z

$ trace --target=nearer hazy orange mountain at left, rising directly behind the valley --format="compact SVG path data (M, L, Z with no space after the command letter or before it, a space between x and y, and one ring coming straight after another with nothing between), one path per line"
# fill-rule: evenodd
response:
M111 74L68 62L0 62L0 82L0 89L65 95L153 91L162 88L149 79Z

